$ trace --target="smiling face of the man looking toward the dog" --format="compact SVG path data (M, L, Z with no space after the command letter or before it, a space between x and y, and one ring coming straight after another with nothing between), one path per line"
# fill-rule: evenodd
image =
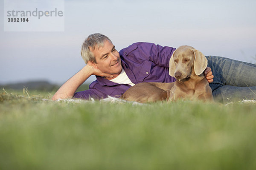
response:
M115 49L115 46L108 40L105 40L103 47L95 48L91 50L96 63L93 63L94 67L99 68L100 71L112 75L118 75L122 71L121 59L119 52Z

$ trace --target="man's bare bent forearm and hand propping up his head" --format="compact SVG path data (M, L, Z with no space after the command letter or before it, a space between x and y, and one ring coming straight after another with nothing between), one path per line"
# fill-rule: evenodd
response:
M76 89L87 80L91 75L97 75L102 77L112 77L110 74L105 74L99 69L94 68L89 63L85 65L79 72L73 77L67 80L53 95L52 100L66 99L74 96Z

